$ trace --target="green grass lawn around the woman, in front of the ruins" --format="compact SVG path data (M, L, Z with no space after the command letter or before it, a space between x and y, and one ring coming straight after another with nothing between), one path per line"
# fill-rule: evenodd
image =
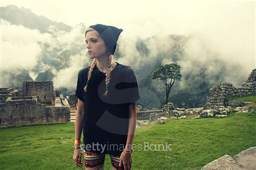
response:
M169 120L137 128L133 144L167 142L172 150L134 149L132 168L200 169L224 154L233 157L256 146L255 120L256 111L231 113L220 119ZM72 160L74 132L73 123L2 129L0 169L79 169ZM107 154L105 169L112 169Z

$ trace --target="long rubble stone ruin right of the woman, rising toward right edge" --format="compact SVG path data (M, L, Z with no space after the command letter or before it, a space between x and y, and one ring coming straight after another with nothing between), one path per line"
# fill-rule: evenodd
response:
M248 79L242 83L241 87L234 87L231 83L220 83L210 89L210 97L207 97L206 105L199 108L176 108L172 103L162 107L161 112L150 113L150 120L145 124L164 124L169 119L199 119L206 117L224 118L228 113L250 112L247 105L250 102L229 100L225 97L247 96L256 94L256 69L254 69ZM139 126L139 125L138 125Z

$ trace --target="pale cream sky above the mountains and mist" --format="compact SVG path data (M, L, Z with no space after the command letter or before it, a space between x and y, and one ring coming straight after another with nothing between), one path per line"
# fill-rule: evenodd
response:
M37 15L63 22L70 26L78 23L136 24L151 21L160 31L185 34L216 24L235 24L238 17L255 23L254 1L62 1L62 0L1 0L1 6L14 4L29 8ZM47 9L47 10L45 10ZM254 15L250 18L242 16ZM252 26L251 25L251 26Z

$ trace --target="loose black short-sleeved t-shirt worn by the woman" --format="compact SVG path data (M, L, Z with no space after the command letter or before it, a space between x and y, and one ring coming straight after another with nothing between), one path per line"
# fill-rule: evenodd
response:
M76 96L85 103L84 149L120 155L127 140L129 105L140 98L136 76L131 66L117 63L105 97L106 76L97 66L87 92L83 91L89 70L90 66L79 71L76 89Z

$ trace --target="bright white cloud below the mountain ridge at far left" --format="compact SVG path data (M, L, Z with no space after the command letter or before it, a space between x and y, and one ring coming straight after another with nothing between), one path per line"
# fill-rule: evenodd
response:
M22 25L11 25L0 18L1 22L1 70L11 70L15 67L31 69L37 63L42 49L38 41L44 42L50 38L47 33L30 30Z

